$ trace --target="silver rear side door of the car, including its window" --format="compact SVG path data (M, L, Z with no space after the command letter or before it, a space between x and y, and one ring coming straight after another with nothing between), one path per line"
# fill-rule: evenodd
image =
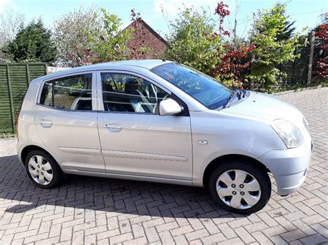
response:
M46 147L71 170L105 172L97 128L95 72L44 81L35 125Z

